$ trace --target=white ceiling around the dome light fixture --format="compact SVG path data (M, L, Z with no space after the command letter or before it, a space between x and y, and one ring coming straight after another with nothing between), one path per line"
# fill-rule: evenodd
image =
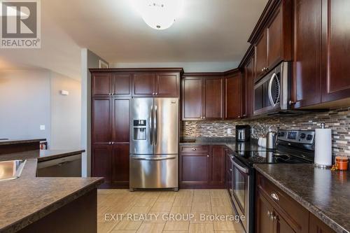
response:
M42 49L8 50L5 55L19 64L53 67L61 70L58 73L66 70L70 76L80 72L80 48L112 64L239 62L267 3L184 0L174 25L157 31L144 23L130 1L41 0Z

